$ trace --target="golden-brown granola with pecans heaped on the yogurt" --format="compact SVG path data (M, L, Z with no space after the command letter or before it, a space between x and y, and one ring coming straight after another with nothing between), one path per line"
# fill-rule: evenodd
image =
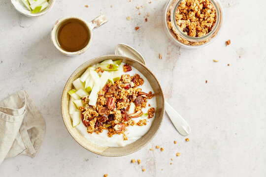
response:
M130 65L124 65L124 71L130 71ZM142 86L144 80L138 74L130 76L124 74L119 81L105 84L102 90L98 92L98 101L96 106L90 106L88 99L82 99L85 107L79 107L81 111L81 120L87 127L88 133L101 133L104 129L108 130L108 137L114 134L123 134L124 140L128 140L125 131L126 127L131 125L143 126L147 120L139 120L137 123L132 118L138 118L143 113L142 108L146 108L147 99L154 97L154 94L142 92L138 86ZM135 104L133 114L128 114L131 102ZM155 108L150 108L147 115L152 118Z

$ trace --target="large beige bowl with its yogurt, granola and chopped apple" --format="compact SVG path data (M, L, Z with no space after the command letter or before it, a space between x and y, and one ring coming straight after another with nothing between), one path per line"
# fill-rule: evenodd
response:
M68 132L82 147L122 156L155 136L164 117L164 96L145 65L107 55L88 60L73 72L61 110Z

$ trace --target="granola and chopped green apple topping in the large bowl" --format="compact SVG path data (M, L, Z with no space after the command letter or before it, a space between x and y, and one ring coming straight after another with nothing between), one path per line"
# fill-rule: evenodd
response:
M144 84L140 73L132 69L122 60L105 60L95 67L89 67L75 80L75 89L69 91L69 114L73 127L79 129L82 122L89 134L105 131L108 138L118 134L123 141L127 141L129 126L147 125L156 112L147 102L153 100L155 95L152 89L149 92L141 89L149 83Z

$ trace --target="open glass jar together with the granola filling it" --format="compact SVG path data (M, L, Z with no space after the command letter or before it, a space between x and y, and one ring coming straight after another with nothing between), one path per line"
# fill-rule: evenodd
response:
M199 48L217 38L223 24L219 0L169 0L164 26L171 41L184 48Z

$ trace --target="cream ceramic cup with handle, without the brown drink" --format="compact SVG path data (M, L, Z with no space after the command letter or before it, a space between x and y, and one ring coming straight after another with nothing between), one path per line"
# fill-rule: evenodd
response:
M88 31L90 32L90 39L89 39L89 42L88 44L81 50L77 51L77 52L67 52L65 51L64 49L62 49L57 41L57 32L58 32L58 29L60 28L61 24L63 22L65 22L66 20L69 20L69 19L77 19L77 20L80 20L82 21ZM67 55L67 56L76 56L76 55L80 55L80 54L83 54L91 45L92 43L92 39L93 39L93 32L92 30L93 29L96 29L98 27L100 27L101 25L105 24L107 22L107 18L105 17L105 15L100 15L98 17L96 17L95 19L93 19L91 22L87 22L86 20L84 20L83 18L81 17L78 17L78 16L66 16L66 17L62 17L61 19L59 19L58 21L56 21L52 31L51 31L51 40L53 42L53 44L55 45L55 47L59 50L59 52L61 52L62 54L64 55Z

